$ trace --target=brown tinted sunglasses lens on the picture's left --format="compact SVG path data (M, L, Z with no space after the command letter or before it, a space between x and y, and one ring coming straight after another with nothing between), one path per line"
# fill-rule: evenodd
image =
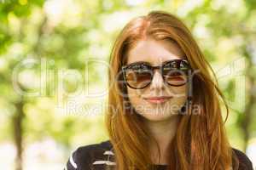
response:
M131 88L145 88L151 82L152 72L148 68L129 68L125 78Z

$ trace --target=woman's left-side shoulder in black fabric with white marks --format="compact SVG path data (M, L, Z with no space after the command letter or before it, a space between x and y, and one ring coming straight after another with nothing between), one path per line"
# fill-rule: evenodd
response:
M67 170L102 169L105 165L113 165L113 147L109 140L98 144L80 146L74 150L67 161Z

